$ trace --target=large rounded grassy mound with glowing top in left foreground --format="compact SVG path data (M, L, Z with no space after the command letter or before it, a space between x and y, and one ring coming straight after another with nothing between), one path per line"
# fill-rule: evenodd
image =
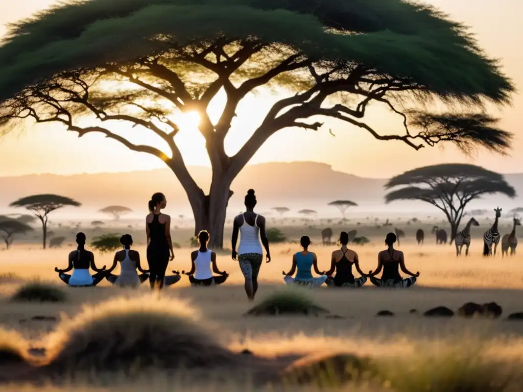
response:
M154 295L117 298L85 307L50 336L52 371L192 368L229 364L235 354L200 328L184 302Z

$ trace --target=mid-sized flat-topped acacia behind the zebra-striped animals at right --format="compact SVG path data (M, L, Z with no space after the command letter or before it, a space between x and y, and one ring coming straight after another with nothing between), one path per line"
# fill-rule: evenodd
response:
M450 243L456 238L465 207L484 194L503 193L509 198L516 191L501 174L468 164L425 166L406 171L391 178L386 189L402 187L389 192L385 202L420 200L443 211L450 223Z

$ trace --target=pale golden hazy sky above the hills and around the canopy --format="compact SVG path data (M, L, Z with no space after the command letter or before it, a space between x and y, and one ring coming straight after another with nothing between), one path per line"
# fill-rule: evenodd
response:
M119 1L119 0L113 0ZM471 26L472 31L488 55L502 60L504 72L523 86L521 50L523 35L518 22L523 14L521 0L456 1L427 0L453 19ZM0 24L29 16L35 10L53 3L51 0L17 0L0 2ZM5 29L0 30L0 35ZM231 155L252 132L256 123L271 103L271 97L252 97L238 111L231 134L226 139L226 151ZM212 108L211 108L212 109ZM503 118L504 129L514 132L516 140L511 156L503 157L480 152L471 158L464 157L452 146L424 148L418 152L400 142L376 141L365 131L341 122L326 122L319 132L303 130L280 131L260 149L251 163L268 161L313 160L325 162L334 169L360 176L389 177L416 166L443 162L469 162L501 172L523 171L523 138L520 128L523 120L523 99L515 95L513 106L502 112L493 111ZM214 110L216 112L216 110ZM370 116L369 116L370 114ZM401 132L401 121L379 108L373 109L366 121L380 133L394 129ZM211 110L211 116L213 111ZM202 137L194 121L185 119L185 129L177 136L186 162L189 165L208 165ZM329 135L331 128L336 137ZM122 129L124 131L124 129ZM143 141L143 139L142 139ZM153 143L154 144L154 143ZM14 132L0 138L0 176L29 173L129 171L165 167L155 157L128 151L118 142L100 135L87 135L82 139L76 133L66 132L60 125L35 126L23 132ZM8 164L6 164L8 163Z

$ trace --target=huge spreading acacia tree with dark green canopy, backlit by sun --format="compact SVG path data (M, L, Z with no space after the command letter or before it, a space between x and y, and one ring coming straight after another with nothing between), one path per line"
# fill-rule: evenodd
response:
M278 96L234 155L224 141L238 103L265 87ZM404 0L84 0L41 11L9 27L0 48L0 105L6 129L17 119L60 123L79 136L101 133L172 169L188 195L196 232L222 246L233 179L279 130L319 130L323 118L383 141L419 149L446 141L465 150L500 149L509 135L463 128L483 100L503 104L514 90L463 25ZM218 120L208 107L223 94ZM417 112L401 102L440 98L459 113ZM363 119L372 103L398 116L399 132ZM255 109L253 109L255 110ZM190 176L173 114L198 112L212 180L206 194ZM419 119L418 119L419 120ZM128 125L111 131L110 123ZM418 128L416 130L416 127ZM163 148L134 144L150 133Z

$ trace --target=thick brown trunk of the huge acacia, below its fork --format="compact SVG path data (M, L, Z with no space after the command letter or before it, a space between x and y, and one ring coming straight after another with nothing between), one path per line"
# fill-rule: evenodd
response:
M213 176L211 189L208 195L203 191L198 193L187 192L195 217L195 236L200 230L210 233L209 248L223 248L223 227L227 205L232 196L231 181L225 176ZM187 191L187 190L186 190Z

